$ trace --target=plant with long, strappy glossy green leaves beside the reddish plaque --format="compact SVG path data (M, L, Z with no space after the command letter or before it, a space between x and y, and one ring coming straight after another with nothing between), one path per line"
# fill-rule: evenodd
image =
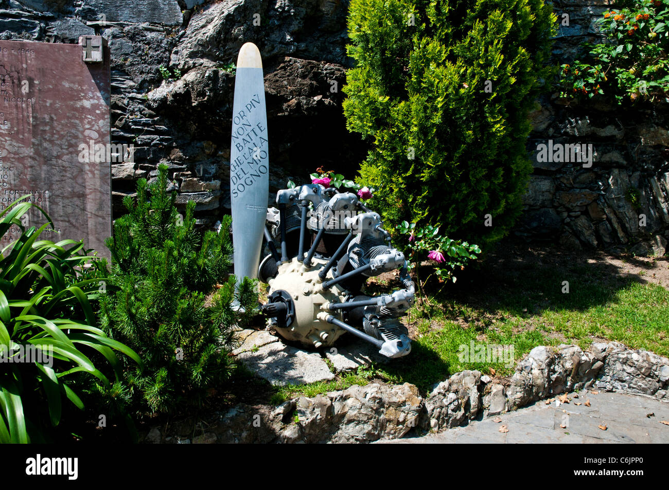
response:
M64 410L84 408L76 390L111 389L102 364L120 380L114 350L140 362L95 327L92 303L106 261L88 255L81 241L40 239L53 223L45 215L39 229L25 228L21 217L33 205L20 201L0 214L0 236L21 231L0 255L0 443L50 439ZM88 382L77 382L82 374Z

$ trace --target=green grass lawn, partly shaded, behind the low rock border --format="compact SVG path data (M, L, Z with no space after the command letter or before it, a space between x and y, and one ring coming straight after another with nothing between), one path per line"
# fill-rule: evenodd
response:
M425 299L411 308L405 318L413 341L408 356L359 368L330 382L270 388L271 402L372 380L409 382L425 393L464 369L504 378L518 359L539 345L587 348L592 342L616 340L669 356L668 286L666 257L616 258L502 244L476 270L458 276L455 285L441 291L428 288ZM371 279L367 292L397 287L388 274ZM461 346L469 350L472 342L504 346L507 357L498 358L500 362L466 362Z

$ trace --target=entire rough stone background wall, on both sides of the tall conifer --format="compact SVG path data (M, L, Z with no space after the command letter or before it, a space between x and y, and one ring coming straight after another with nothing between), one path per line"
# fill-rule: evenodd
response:
M134 5L138 4L137 7ZM272 170L285 187L324 165L351 175L367 152L341 110L348 0L0 0L0 39L109 40L112 142L132 143L134 162L112 166L115 215L137 178L170 167L178 202L197 203L212 225L229 212L229 134L234 76L246 41L263 55ZM562 0L555 63L595 41L602 0ZM165 69L161 72L161 66ZM169 80L165 80L165 76ZM593 144L592 166L537 162L514 235L564 247L663 254L669 238L669 111L666 104L622 111L543 97L532 114L538 144ZM645 215L646 226L640 226Z

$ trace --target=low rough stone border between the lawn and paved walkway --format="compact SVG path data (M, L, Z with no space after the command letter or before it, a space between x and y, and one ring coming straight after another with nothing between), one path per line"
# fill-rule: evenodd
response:
M271 412L238 404L221 414L213 443L371 443L403 437L411 428L440 431L583 388L669 401L669 359L617 342L535 347L508 384L465 370L422 398L413 384L371 383L288 400ZM155 435L153 437L155 440ZM193 440L195 442L195 439Z

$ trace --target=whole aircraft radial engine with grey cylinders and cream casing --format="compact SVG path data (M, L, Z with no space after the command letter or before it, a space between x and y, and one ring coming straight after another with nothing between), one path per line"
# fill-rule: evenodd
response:
M389 358L409 354L400 322L415 288L403 253L391 246L381 217L353 193L320 184L283 189L268 209L266 255L258 277L269 284L262 312L286 340L329 347L346 332ZM368 277L400 269L403 289L370 297Z

